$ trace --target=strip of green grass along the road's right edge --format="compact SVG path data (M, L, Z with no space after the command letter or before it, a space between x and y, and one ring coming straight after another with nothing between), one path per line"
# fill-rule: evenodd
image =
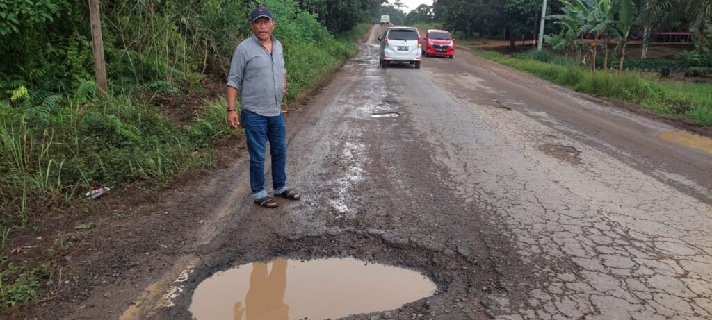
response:
M575 62L544 63L526 55L509 57L478 50L483 58L508 65L580 92L633 102L659 114L712 126L712 85L651 80L634 72L591 72Z

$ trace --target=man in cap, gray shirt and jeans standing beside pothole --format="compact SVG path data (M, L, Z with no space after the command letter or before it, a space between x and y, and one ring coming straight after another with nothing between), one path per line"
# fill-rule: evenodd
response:
M287 187L287 130L281 102L287 92L282 44L272 36L274 19L267 8L252 11L250 21L254 36L237 46L227 79L227 121L233 128L242 125L250 154L250 187L254 203L277 208L264 187L266 143L272 155L274 195L299 200L300 195ZM241 114L235 111L240 94Z

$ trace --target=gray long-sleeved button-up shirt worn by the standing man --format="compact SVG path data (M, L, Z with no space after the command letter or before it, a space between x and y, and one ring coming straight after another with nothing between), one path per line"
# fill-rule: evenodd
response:
M282 112L286 73L282 44L272 37L270 54L252 36L235 48L227 85L240 91L240 105L244 110L275 117Z

